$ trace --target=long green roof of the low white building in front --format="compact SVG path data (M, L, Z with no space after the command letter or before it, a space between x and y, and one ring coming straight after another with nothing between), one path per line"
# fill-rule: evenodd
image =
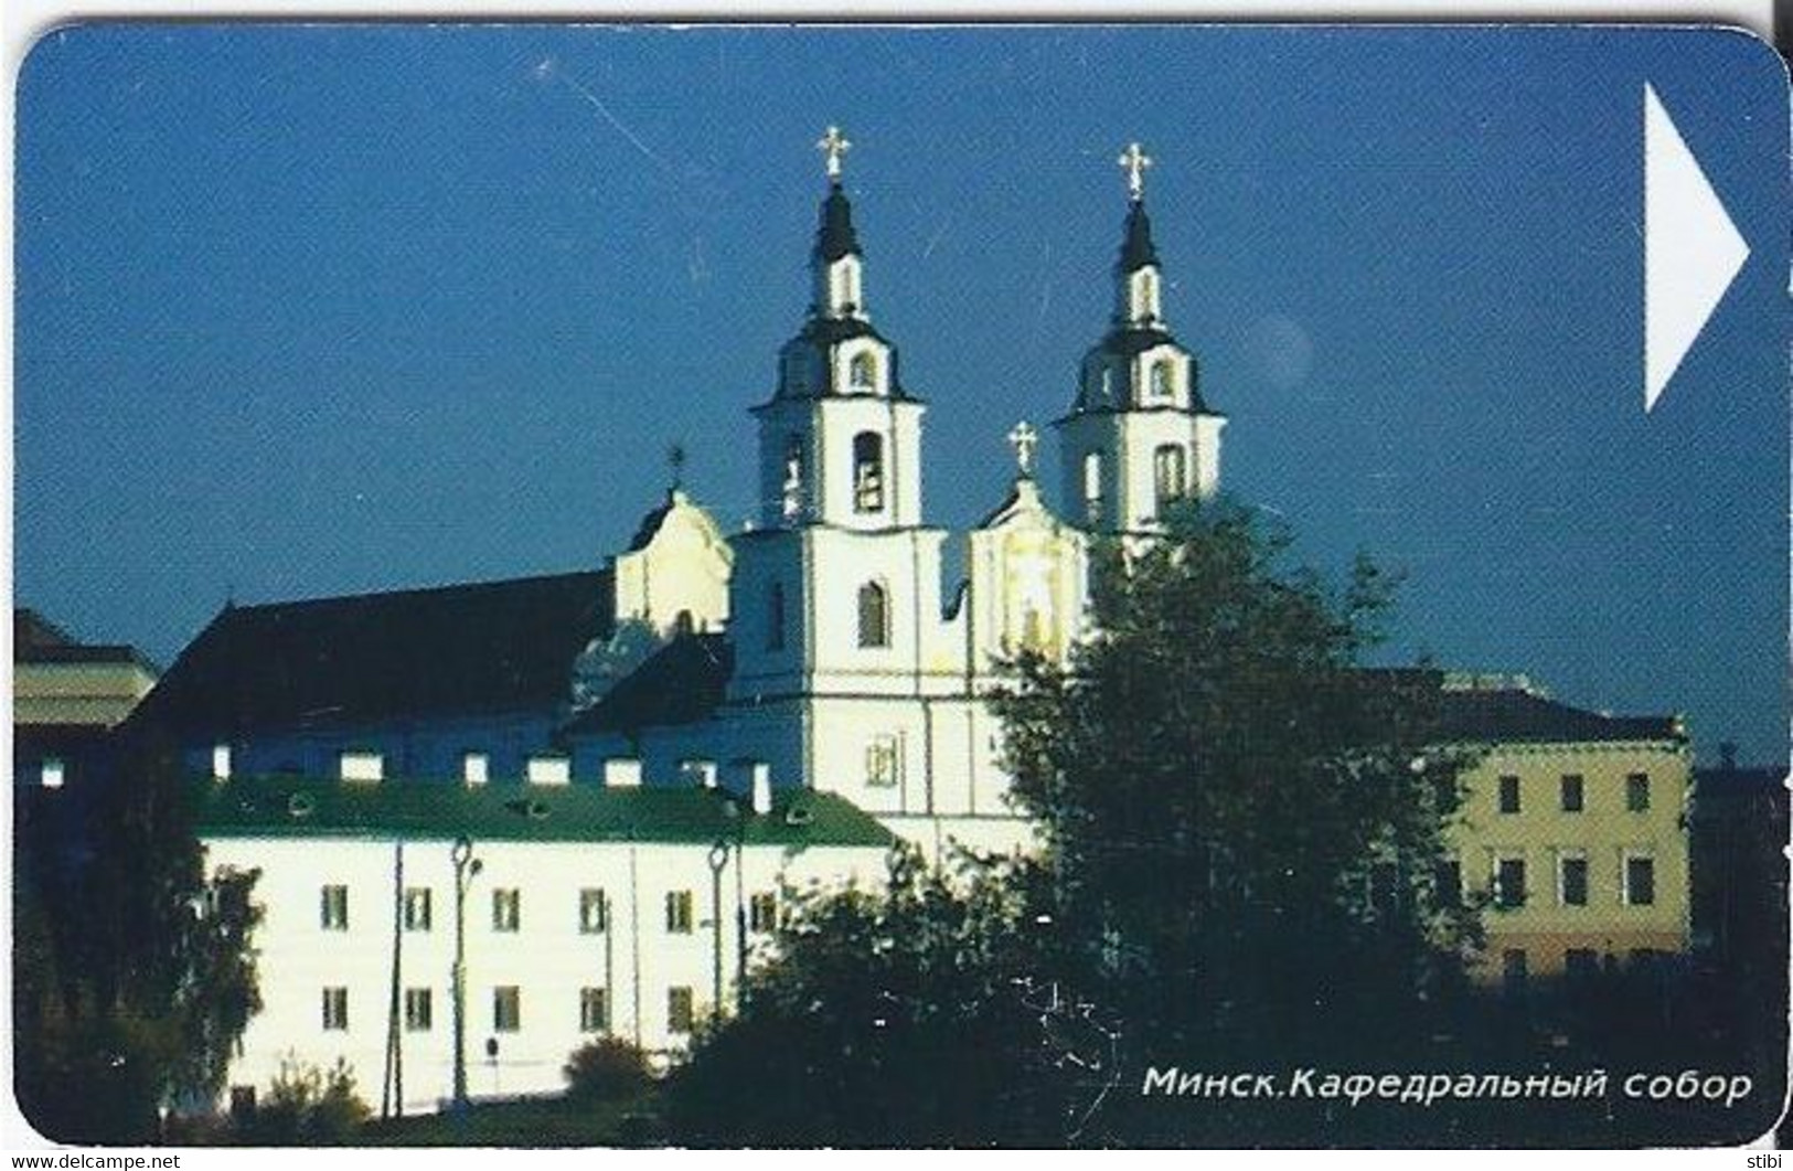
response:
M721 789L473 785L418 780L203 780L190 791L206 837L357 837L473 841L733 841L767 846L873 846L896 839L830 793L778 791L755 816Z

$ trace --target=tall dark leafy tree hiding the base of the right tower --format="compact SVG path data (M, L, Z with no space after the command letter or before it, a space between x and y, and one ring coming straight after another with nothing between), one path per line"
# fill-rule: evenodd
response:
M1373 1056L1476 934L1433 888L1463 764L1438 680L1361 667L1393 581L1359 558L1334 588L1287 549L1226 500L1097 549L1097 633L995 701L1065 972L1165 1051Z

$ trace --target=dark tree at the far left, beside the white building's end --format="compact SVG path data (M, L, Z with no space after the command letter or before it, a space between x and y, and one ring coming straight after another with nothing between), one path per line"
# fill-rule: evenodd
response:
M219 1097L260 1010L260 872L206 877L178 762L149 739L97 785L14 796L20 1105L59 1141L149 1141L161 1110Z

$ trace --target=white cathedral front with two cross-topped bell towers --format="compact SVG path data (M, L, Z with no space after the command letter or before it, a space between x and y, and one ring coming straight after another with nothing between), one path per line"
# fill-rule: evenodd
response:
M1013 488L963 538L966 579L941 597L952 536L923 509L925 403L871 323L871 282L839 183L846 143L830 129L819 145L828 192L809 316L780 350L771 396L753 407L760 516L726 545L680 542L653 570L715 583L683 619L640 603L662 631L680 620L728 631L726 694L692 724L588 737L576 721L576 753L633 753L649 778L669 782L746 753L771 768L775 785L837 793L929 850L948 839L1024 845L984 696L1022 646L1063 656L1079 637L1088 531L1149 531L1169 500L1219 482L1225 420L1201 403L1194 359L1164 321L1140 185L1149 158L1137 145L1122 156L1131 201L1113 323L1056 425L1056 506L1035 479L1038 438L1020 423L1009 432ZM669 522L687 513L689 531L715 531L678 495L671 509Z

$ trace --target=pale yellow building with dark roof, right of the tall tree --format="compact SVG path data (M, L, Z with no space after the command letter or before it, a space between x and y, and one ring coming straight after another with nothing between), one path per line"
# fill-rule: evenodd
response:
M1442 719L1477 753L1449 836L1460 889L1488 898L1477 979L1574 981L1687 950L1693 750L1676 717L1452 676Z

